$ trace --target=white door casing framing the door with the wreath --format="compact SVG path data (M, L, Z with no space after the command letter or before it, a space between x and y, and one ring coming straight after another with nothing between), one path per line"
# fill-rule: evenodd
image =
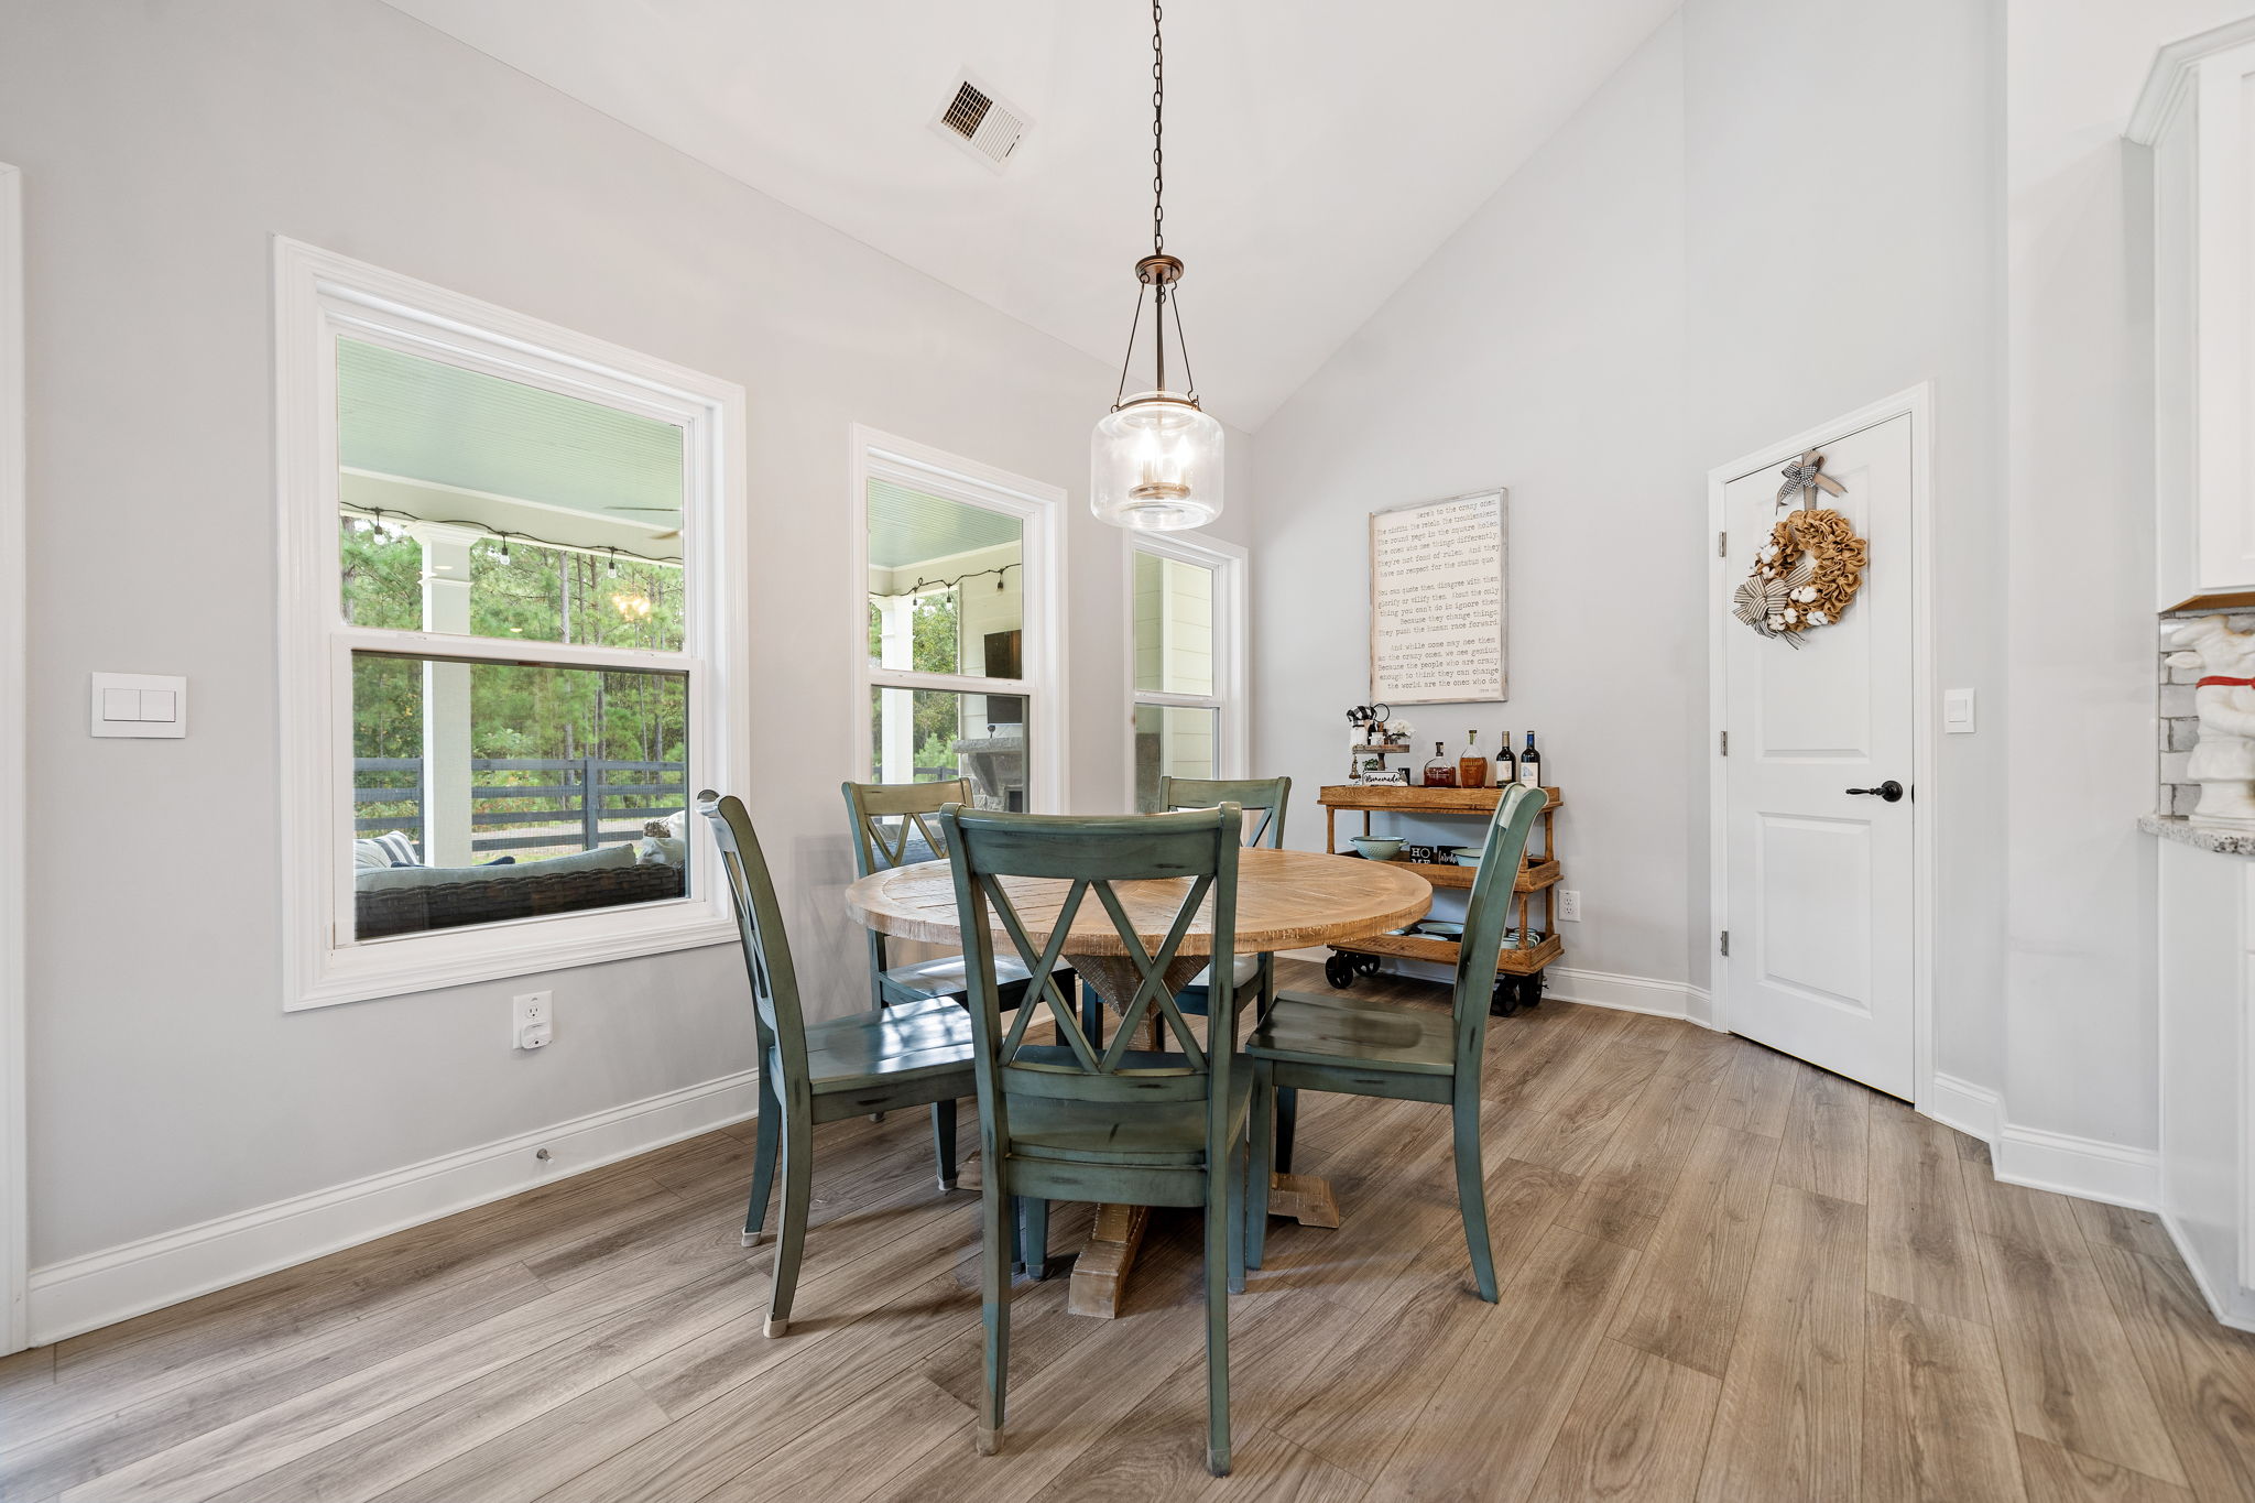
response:
M1723 489L1761 469L1775 469L1809 448L1836 444L1876 424L1910 417L1910 1088L1921 1109L1935 1095L1935 813L1944 789L1935 748L1935 403L1933 383L1921 381L1885 401L1818 424L1790 439L1779 439L1707 471L1707 532L1721 532ZM1730 723L1730 685L1723 674L1730 613L1718 606L1730 599L1730 559L1707 559L1707 863L1712 886L1709 942L1730 928L1730 764L1721 755L1721 735ZM1716 967L1709 1023L1730 1028L1730 991L1725 967Z

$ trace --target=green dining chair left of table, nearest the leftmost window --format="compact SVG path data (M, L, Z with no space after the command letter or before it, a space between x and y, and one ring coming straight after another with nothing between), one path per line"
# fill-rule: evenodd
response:
M956 1097L976 1091L972 1021L947 998L920 998L807 1023L798 1010L798 971L792 967L776 883L767 874L760 836L751 829L744 802L706 789L697 795L697 811L713 825L728 897L735 901L744 969L751 973L751 1028L760 1046L760 1118L744 1246L762 1237L776 1160L782 1160L776 1271L767 1300L767 1334L780 1336L792 1320L792 1291L807 1242L814 1127L929 1104L940 1190L954 1190Z

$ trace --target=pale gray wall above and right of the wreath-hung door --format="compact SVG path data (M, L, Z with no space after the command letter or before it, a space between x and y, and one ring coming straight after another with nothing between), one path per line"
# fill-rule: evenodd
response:
M2002 36L1996 0L1684 5L1684 412L1705 471L1935 383L1935 1064L2002 1070ZM1935 708L1939 719L1939 705ZM1908 773L1903 775L1908 782Z

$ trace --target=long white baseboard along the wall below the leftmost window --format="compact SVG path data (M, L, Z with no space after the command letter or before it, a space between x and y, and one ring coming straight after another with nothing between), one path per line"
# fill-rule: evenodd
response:
M32 1271L32 1343L178 1305L469 1206L631 1158L753 1115L740 1070L404 1170L370 1174ZM537 1158L548 1149L548 1158Z

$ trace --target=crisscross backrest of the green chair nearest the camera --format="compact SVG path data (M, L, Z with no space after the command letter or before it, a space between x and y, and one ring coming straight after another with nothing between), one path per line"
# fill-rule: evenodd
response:
M1080 818L1044 813L994 813L965 807L940 811L949 863L956 879L956 915L967 960L974 1064L979 1068L979 1109L1001 1145L1008 1145L1008 1118L1001 1115L1010 1095L1067 1100L1211 1100L1227 1097L1229 1059L1236 1039L1236 1005L1229 967L1215 967L1211 1014L1215 1019L1211 1048L1191 1032L1166 967L1182 951L1184 937L1211 904L1213 953L1229 955L1236 940L1236 890L1243 813L1236 804L1191 813ZM1067 881L1064 901L1053 915L1028 917L1024 892L1012 895L1008 879ZM1184 881L1186 879L1186 881ZM1152 949L1143 931L1152 917L1130 913L1121 883L1168 881L1166 933ZM1109 924L1103 949L1121 949L1134 967L1139 985L1121 1007L1112 1046L1098 1050L1080 1028L1073 1007L1053 989L1051 971L1062 962L1073 924L1096 895ZM1150 915L1152 890L1141 888L1137 906ZM1058 1043L1028 1043L1026 1021L1033 1007L1019 1007L1008 1032L1001 1025L1001 996L994 980L994 926L1017 951L1033 976L1033 987L1049 1000ZM1040 935L1040 940L1035 937ZM1087 935L1082 935L1087 940ZM1118 998L1114 998L1118 1000ZM1137 1025L1152 1016L1166 1019L1175 1048L1164 1052L1130 1050ZM1227 1023L1224 1023L1227 1019ZM1006 1151L1006 1147L1003 1147Z

